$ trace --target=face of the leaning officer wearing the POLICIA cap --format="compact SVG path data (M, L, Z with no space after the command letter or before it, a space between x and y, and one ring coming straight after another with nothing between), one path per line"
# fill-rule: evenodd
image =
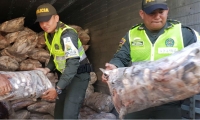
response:
M40 27L47 33L54 33L59 21L58 15L53 15L49 21L39 22Z

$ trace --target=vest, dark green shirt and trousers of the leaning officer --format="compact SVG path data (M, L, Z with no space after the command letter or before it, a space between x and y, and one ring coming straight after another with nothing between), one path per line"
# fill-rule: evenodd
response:
M79 50L83 49L80 40L76 31L62 22L58 22L54 34L45 33L45 37L51 52L47 68L51 71L56 68L59 75L57 86L62 89L62 93L58 94L56 99L54 118L77 119L90 80L90 71L84 69L77 73L80 66L85 67L88 63L84 51ZM67 59L63 59L63 54Z

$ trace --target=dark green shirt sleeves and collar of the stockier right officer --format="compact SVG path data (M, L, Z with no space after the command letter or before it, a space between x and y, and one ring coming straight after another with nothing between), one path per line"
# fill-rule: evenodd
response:
M144 26L144 24L142 24L141 27L139 27L139 29L145 30L152 44L154 44L156 39L161 34L164 33L164 30L169 29L170 27L173 27L173 25L168 21L166 25L158 33L150 32ZM185 47L197 41L195 33L193 33L193 31L189 27L182 26L182 35ZM130 62L131 62L131 57L130 57L129 32L127 32L127 34L122 38L119 45L119 49L114 54L114 57L113 59L111 59L110 63L114 64L117 67L128 67L130 65Z

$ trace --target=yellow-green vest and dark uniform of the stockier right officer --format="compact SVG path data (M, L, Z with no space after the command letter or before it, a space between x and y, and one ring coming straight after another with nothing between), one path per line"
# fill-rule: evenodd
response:
M134 62L154 61L196 42L197 37L197 32L182 26L180 22L175 20L167 20L166 25L157 33L150 32L144 24L138 24L122 38L110 63L117 67L127 67ZM161 47L159 48L159 46ZM152 49L155 52L153 57L151 55ZM181 119L180 106L181 101L176 101L130 113L124 118Z

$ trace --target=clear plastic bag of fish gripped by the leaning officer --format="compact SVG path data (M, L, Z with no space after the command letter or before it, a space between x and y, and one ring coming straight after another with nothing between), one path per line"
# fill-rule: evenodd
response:
M9 76L12 90L6 95L0 96L2 100L16 100L21 98L33 98L33 100L42 96L43 92L52 88L52 84L46 75L39 70L31 71L0 71L0 74Z

